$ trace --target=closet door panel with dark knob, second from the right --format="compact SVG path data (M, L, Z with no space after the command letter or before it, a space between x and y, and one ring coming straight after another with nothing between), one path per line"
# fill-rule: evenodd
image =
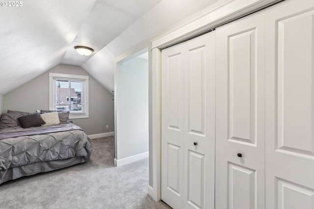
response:
M216 209L264 209L264 12L216 28Z

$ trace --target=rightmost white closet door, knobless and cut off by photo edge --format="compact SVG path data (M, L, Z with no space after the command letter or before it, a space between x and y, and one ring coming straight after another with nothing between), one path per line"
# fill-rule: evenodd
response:
M314 209L314 0L266 10L266 208Z

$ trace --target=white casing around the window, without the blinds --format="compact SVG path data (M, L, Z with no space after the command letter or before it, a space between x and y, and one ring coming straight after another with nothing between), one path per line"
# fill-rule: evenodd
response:
M80 76L80 75L71 75L71 74L62 74L62 73L49 73L49 109L53 110L53 77L65 78L65 79L84 79L86 84L86 111L85 114L73 114L69 115L69 119L78 119L78 118L89 118L89 106L88 106L88 81L89 76Z

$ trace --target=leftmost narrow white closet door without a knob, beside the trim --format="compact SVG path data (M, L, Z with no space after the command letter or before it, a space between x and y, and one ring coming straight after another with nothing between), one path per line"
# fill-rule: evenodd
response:
M184 54L176 45L162 51L161 199L183 208Z

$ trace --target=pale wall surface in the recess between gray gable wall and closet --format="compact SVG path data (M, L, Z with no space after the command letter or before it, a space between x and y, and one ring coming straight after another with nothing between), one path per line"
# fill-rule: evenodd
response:
M146 153L148 132L148 60L133 58L117 69L116 159Z

